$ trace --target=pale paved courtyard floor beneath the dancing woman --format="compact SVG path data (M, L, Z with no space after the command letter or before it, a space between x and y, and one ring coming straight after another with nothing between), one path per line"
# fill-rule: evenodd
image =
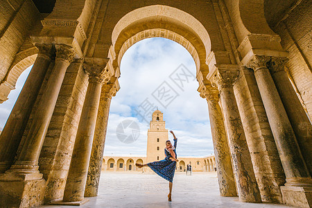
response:
M287 207L220 197L216 173L176 173L172 202L168 202L167 194L168 182L153 173L102 172L98 196L89 198L89 202L81 207Z

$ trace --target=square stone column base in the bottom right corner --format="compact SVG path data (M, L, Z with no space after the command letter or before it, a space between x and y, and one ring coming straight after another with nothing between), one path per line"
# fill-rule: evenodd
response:
M281 195L286 205L312 207L312 187L282 186Z

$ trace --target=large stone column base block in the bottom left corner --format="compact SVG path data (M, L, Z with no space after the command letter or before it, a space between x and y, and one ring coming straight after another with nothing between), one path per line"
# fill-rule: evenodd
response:
M40 173L0 174L0 207L43 205L45 182Z

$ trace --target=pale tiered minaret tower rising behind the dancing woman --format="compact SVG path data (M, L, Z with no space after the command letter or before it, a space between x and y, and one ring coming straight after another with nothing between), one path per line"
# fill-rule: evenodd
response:
M150 121L150 128L148 129L147 162L164 159L164 148L167 140L168 130L165 128L163 113L160 110L155 110L152 115L152 121Z

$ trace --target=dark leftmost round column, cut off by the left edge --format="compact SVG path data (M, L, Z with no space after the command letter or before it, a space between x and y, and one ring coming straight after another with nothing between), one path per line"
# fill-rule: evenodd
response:
M0 173L4 173L12 165L44 76L51 63L52 45L35 44L35 46L39 49L37 58L0 135Z

